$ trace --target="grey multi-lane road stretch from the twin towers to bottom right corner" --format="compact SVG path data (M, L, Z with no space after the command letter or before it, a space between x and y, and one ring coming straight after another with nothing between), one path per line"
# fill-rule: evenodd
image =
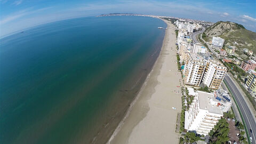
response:
M246 127L249 131L249 135L252 137L252 143L256 143L256 122L255 119L253 118L252 112L247 106L246 101L243 98L243 95L241 92L237 89L236 85L234 82L231 80L229 75L227 74L224 78L225 83L229 87L231 93L234 95L234 98L237 101L237 105L241 109L241 113L244 117L244 121L246 124ZM235 103L234 103L235 105ZM250 129L252 129L252 133L250 132Z

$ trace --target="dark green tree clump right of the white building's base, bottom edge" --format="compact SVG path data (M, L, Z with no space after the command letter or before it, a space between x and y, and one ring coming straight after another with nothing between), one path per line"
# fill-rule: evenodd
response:
M210 131L210 143L227 143L228 138L228 123L225 118L219 119L217 125Z

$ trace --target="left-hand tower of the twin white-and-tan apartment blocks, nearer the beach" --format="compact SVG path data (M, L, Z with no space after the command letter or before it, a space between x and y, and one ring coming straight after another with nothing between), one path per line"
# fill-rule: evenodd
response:
M185 84L199 86L204 75L205 63L201 55L188 53L188 60L183 70Z

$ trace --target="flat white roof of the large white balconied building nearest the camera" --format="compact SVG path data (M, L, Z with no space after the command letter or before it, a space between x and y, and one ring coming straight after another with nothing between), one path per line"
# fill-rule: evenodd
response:
M208 110L210 113L222 115L220 107L211 104L210 99L215 99L213 93L207 93L202 91L197 91L199 107L201 109Z

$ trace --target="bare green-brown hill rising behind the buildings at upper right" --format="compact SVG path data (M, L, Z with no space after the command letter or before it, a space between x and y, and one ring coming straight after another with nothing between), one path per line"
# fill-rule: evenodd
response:
M241 51L246 48L256 53L256 33L247 30L244 26L230 21L219 21L207 28L202 37L209 42L213 36L225 39L225 45L231 45Z

